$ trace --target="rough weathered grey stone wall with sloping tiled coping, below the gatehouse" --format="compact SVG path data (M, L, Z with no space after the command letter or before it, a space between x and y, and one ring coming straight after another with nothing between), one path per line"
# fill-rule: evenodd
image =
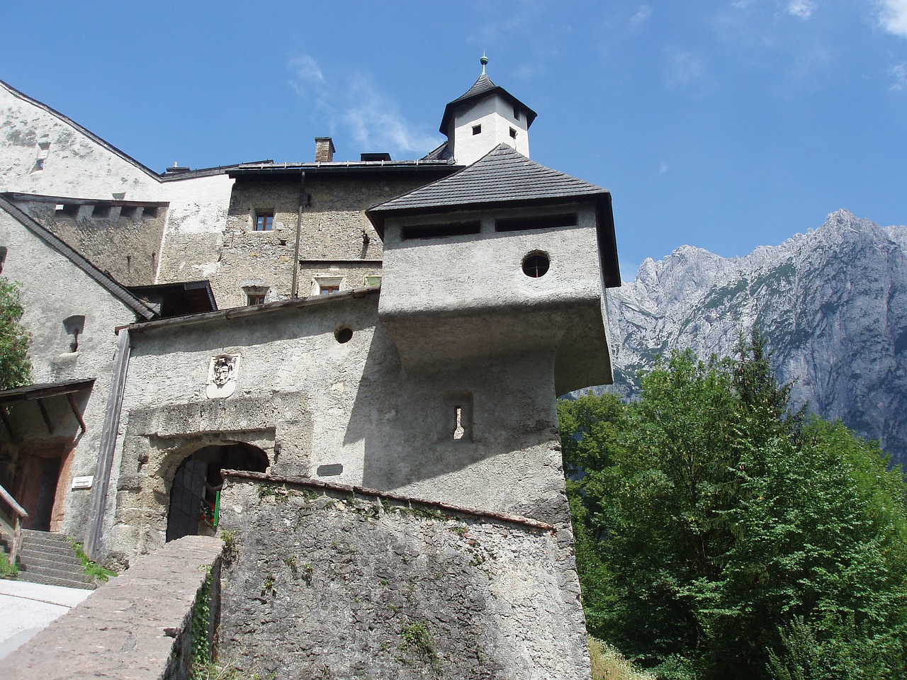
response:
M569 529L228 475L220 657L277 678L588 678Z

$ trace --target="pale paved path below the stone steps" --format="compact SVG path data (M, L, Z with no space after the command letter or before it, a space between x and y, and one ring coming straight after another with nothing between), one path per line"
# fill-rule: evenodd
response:
M0 578L0 659L92 592Z

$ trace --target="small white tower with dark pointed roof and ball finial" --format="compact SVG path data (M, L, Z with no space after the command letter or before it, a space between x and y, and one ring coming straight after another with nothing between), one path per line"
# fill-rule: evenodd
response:
M444 108L440 131L447 150L459 165L471 165L498 144L507 144L529 158L529 127L535 112L510 92L492 83L485 73L473 86Z

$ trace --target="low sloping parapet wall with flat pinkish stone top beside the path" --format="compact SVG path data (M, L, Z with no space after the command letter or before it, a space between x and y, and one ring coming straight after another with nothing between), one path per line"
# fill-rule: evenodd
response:
M188 680L192 615L210 572L213 637L219 539L188 536L138 560L3 660L8 680Z

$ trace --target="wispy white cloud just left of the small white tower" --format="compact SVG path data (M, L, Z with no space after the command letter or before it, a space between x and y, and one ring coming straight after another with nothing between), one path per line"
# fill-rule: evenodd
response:
M326 123L331 134L346 133L360 151L413 157L441 143L430 127L406 120L399 104L379 91L366 73L353 73L346 82L336 83L307 54L291 59L287 67L292 73L288 85L312 104L317 120Z

